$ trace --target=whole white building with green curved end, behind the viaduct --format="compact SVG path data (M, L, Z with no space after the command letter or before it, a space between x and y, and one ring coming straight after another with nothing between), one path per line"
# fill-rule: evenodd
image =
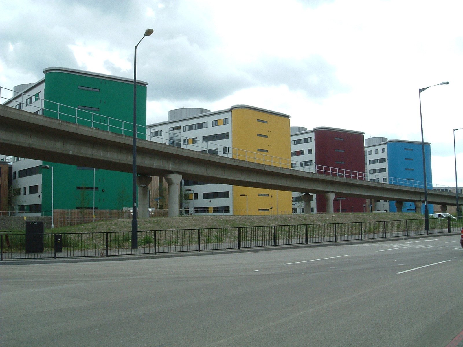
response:
M142 126L146 126L147 84L137 81L137 124ZM46 68L43 79L13 90L12 99L4 105L51 118L58 118L59 113L59 119L64 121L132 136L131 79L69 68ZM3 155L6 158L9 154ZM47 211L45 215L50 215L52 186L55 210L113 210L131 205L131 174L8 158L13 166L13 210L17 213ZM53 170L43 169L44 166Z

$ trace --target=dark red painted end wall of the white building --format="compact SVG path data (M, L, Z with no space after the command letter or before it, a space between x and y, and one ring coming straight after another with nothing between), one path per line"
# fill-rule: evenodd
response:
M365 172L365 149L363 134L356 134L340 130L317 130L314 129L315 144L315 164L317 172L332 175L344 175L346 178L356 178L357 173ZM342 138L343 140L336 140ZM344 150L344 152L336 151ZM342 161L342 163L337 163ZM340 170L332 172L325 167L336 167ZM336 198L344 198L336 201ZM347 196L336 196L334 201L334 212L339 212L339 202L341 202L341 212L363 212L365 199L352 198ZM326 198L323 194L317 194L317 212L326 212Z

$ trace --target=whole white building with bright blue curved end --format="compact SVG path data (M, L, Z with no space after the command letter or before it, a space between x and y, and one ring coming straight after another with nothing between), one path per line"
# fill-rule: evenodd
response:
M425 142L426 181L432 189L431 144ZM423 149L419 141L388 140L385 137L365 139L365 165L369 180L424 188ZM401 212L424 213L416 211L415 204L403 201ZM370 200L371 211L397 212L395 201ZM429 213L434 206L428 206ZM400 211L399 211L400 212Z

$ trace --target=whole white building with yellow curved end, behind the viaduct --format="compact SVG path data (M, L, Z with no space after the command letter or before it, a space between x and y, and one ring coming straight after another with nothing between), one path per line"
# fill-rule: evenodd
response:
M289 116L249 105L210 112L183 108L169 120L148 125L151 141L287 167L290 162ZM277 159L278 158L278 159ZM270 215L291 213L291 192L182 181L182 213Z

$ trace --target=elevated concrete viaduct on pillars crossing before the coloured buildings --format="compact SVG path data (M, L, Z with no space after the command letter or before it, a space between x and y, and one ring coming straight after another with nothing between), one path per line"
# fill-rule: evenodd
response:
M0 124L2 154L128 173L132 170L130 136L64 122L3 105L0 105ZM137 172L140 175L167 177L168 181L171 181L169 196L174 194L177 197L177 180L184 178L307 194L326 194L327 204L330 204L327 206L328 211L331 212L335 194L410 201L417 204L424 200L421 188L307 173L142 139L137 141ZM460 197L463 201L463 194ZM310 196L306 196L304 200L306 204L310 204ZM455 205L455 200L453 193L428 191L430 204ZM172 203L175 204L174 201ZM177 207L171 207L169 216L177 214Z

